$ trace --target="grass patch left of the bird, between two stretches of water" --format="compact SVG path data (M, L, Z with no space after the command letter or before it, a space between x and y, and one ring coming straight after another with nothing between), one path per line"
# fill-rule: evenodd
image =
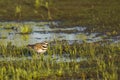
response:
M0 55L4 57L20 57L28 54L27 48L16 47L11 42L8 42L7 45L0 45Z

